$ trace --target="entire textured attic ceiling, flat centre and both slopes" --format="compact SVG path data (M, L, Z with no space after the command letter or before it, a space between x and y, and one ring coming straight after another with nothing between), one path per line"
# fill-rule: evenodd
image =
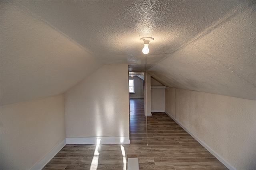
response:
M256 100L255 1L1 1L1 105L61 94L103 64Z

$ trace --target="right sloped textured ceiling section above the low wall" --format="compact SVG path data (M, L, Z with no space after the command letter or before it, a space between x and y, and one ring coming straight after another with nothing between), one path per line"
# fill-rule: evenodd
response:
M230 15L148 72L166 86L256 100L255 5Z

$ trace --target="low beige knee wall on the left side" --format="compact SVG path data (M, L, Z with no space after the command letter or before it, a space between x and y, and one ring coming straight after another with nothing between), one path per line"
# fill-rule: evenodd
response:
M1 169L28 170L65 139L64 94L1 106Z

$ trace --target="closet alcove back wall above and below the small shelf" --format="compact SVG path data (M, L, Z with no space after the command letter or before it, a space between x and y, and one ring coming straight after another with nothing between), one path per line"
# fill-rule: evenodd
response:
M151 86L164 86L160 82L151 78ZM164 88L151 88L151 112L164 112Z

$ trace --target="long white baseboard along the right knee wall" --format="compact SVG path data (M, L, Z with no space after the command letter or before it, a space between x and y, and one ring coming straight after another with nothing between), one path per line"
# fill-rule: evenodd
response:
M206 145L203 141L198 139L192 132L190 132L186 127L184 127L182 124L180 124L174 117L172 117L168 112L165 111L165 113L171 117L178 125L180 125L186 132L188 132L196 141L198 141L205 149L207 149L213 156L215 156L222 164L224 164L229 170L236 170L234 166L232 166L230 163L226 162L220 155L218 155L214 150L212 150L208 145Z

